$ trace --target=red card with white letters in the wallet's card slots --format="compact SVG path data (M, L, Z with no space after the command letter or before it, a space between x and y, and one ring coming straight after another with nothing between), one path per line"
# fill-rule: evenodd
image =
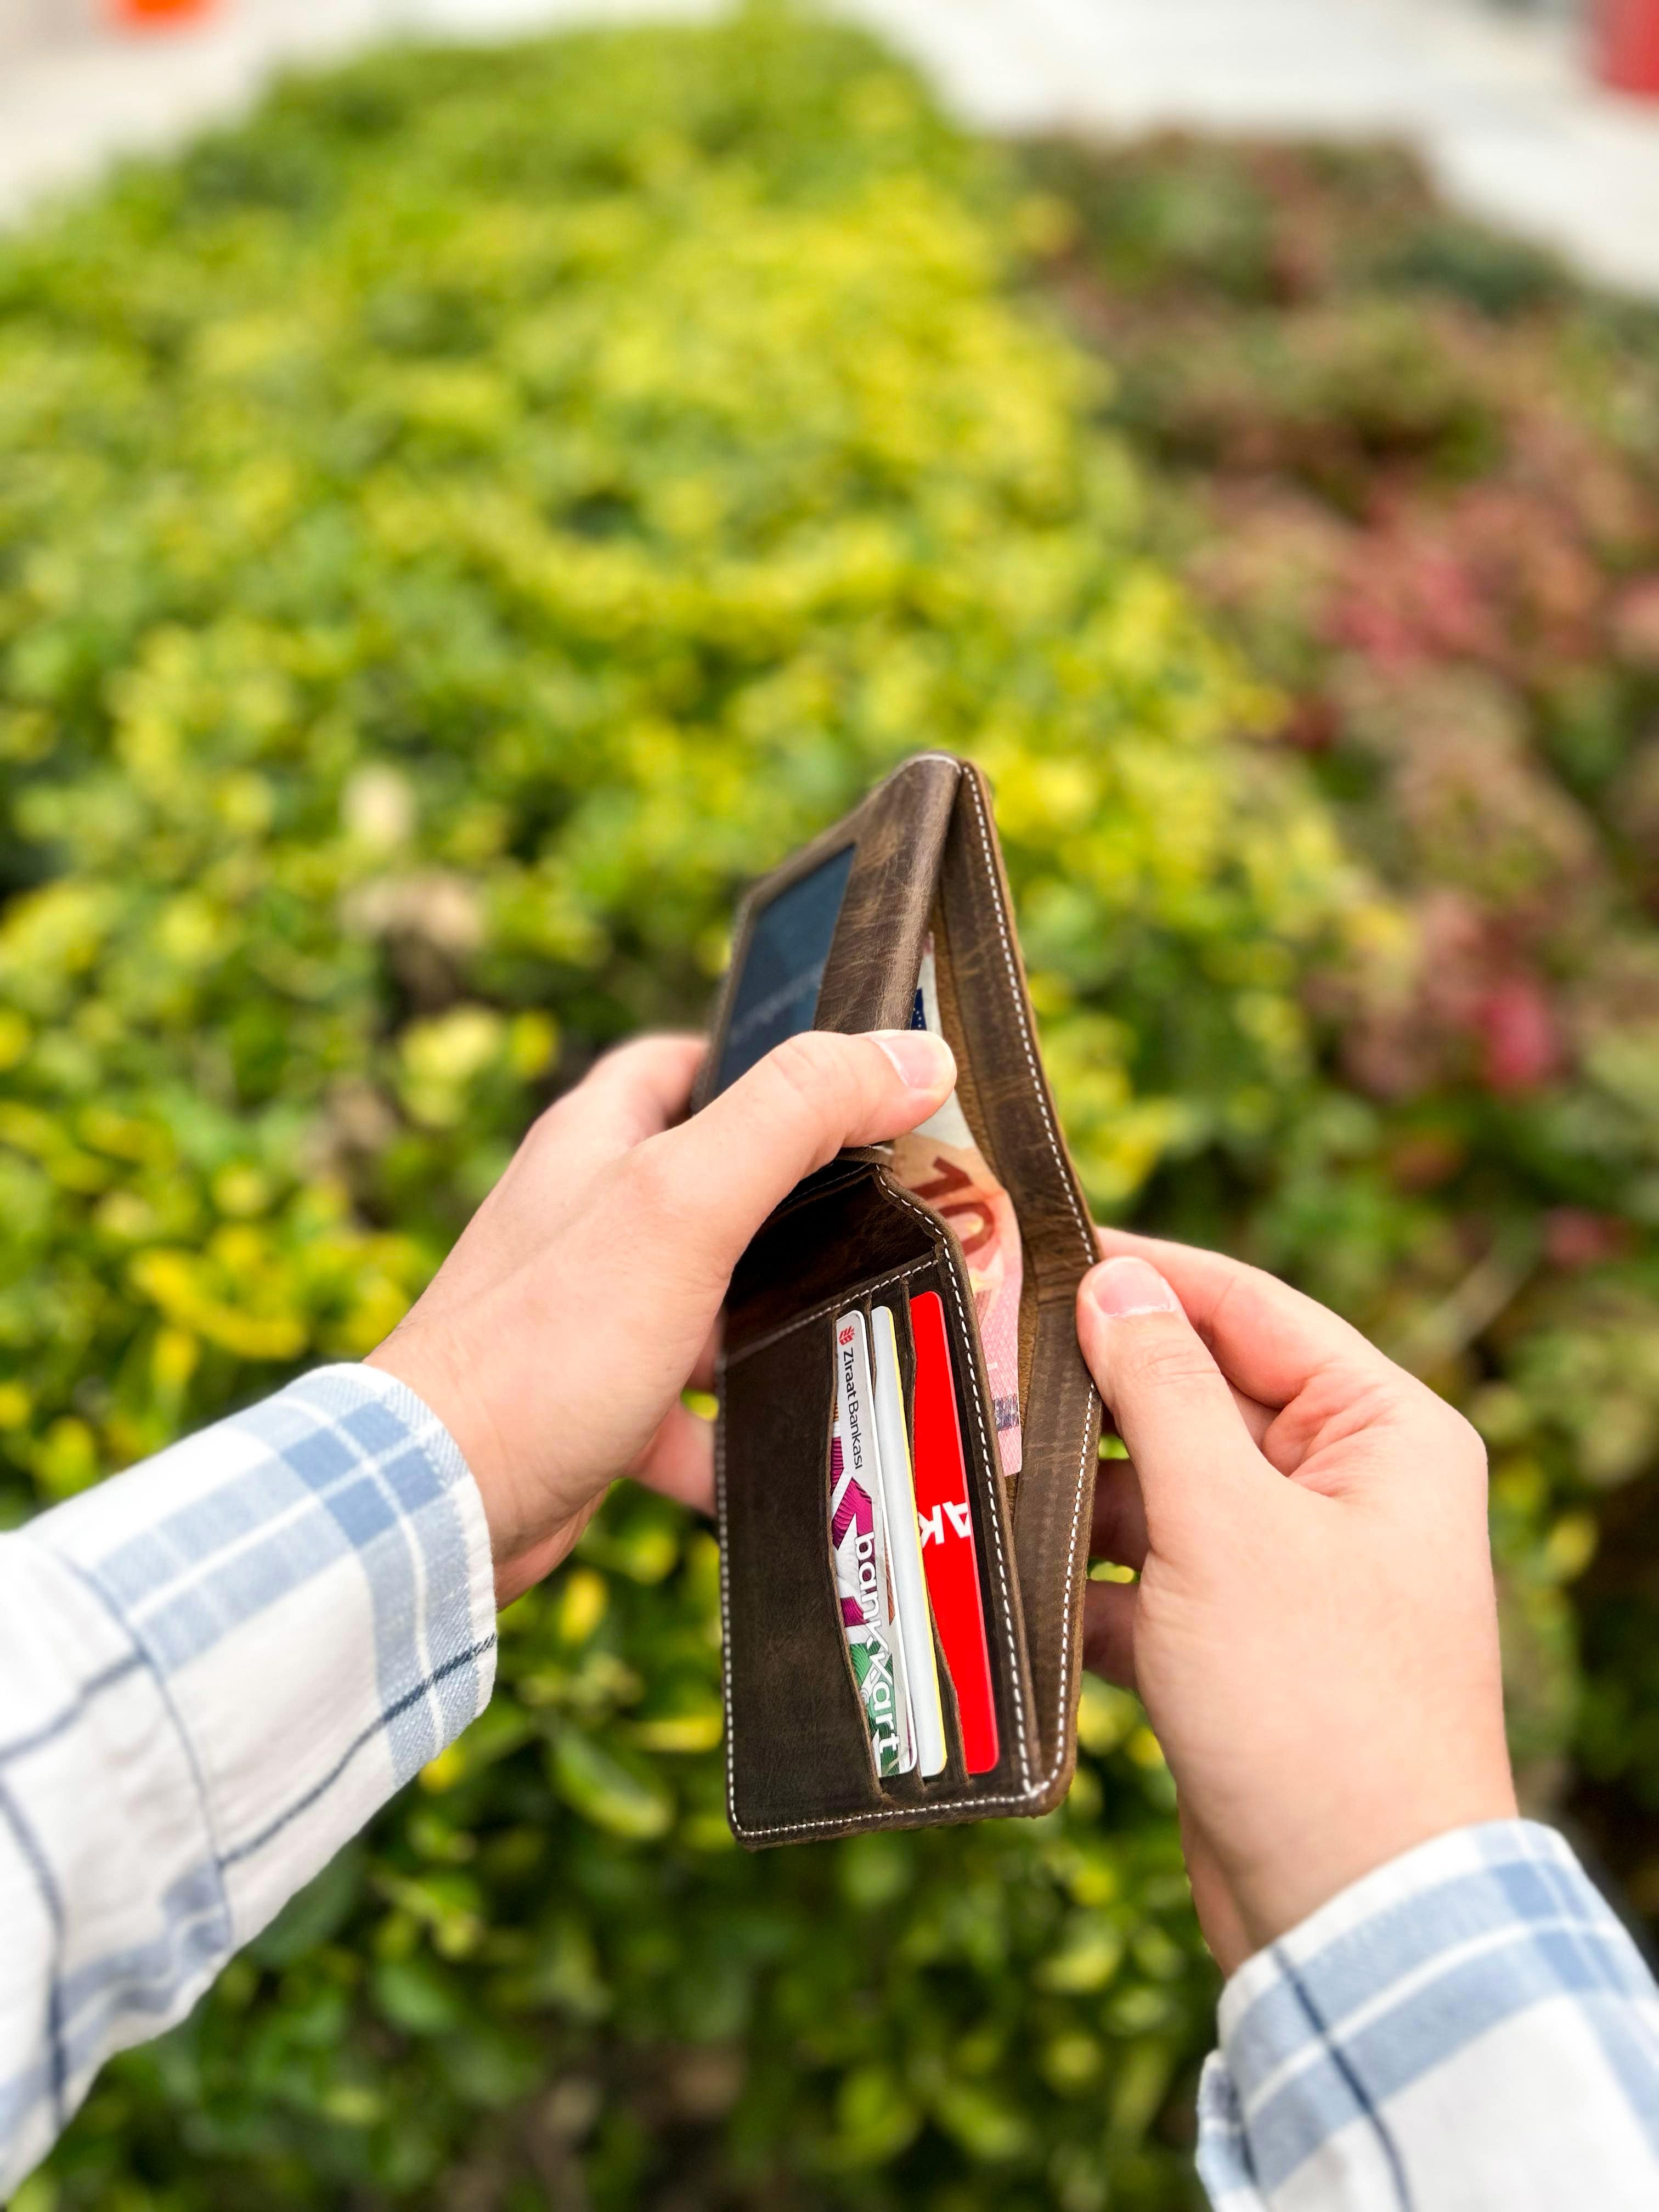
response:
M922 1568L933 1606L945 1666L962 1717L962 1759L969 1774L998 1763L998 1714L991 1701L991 1650L984 1641L980 1555L973 1544L962 1427L956 1418L951 1347L945 1305L936 1290L909 1301L916 1338L916 1520L922 1531Z

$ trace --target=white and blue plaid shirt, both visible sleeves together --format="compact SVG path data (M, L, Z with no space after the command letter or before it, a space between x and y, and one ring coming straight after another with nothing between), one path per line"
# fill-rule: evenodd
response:
M0 2197L484 1705L489 1531L400 1383L325 1367L0 1537ZM1659 1991L1522 1820L1252 1958L1217 2212L1655 2212Z

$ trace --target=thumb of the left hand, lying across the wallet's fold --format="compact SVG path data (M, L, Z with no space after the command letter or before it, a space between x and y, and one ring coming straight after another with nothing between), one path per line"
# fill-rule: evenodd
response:
M657 1155L664 1183L690 1194L703 1250L730 1274L801 1177L847 1144L878 1144L916 1128L953 1084L951 1048L927 1029L876 1029L863 1037L810 1029L776 1044L730 1091L639 1152Z

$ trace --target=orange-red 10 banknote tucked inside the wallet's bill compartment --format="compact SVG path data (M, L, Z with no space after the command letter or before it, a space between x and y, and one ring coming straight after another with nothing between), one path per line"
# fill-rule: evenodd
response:
M922 945L911 1029L931 1029L936 1035L945 1035L938 1015L931 936ZM1002 1473L1018 1475L1022 1464L1020 1283L1024 1281L1020 1223L1013 1214L1013 1199L973 1139L956 1091L920 1128L894 1141L891 1172L905 1190L951 1223L962 1245L980 1343L984 1345L984 1367L991 1378Z

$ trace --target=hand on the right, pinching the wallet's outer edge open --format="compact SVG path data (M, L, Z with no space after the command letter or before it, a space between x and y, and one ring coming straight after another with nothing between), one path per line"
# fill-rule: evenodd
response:
M1206 1940L1232 1973L1429 1836L1515 1814L1486 1455L1274 1276L1102 1230L1077 1332L1104 1460L1084 1659L1139 1692Z

